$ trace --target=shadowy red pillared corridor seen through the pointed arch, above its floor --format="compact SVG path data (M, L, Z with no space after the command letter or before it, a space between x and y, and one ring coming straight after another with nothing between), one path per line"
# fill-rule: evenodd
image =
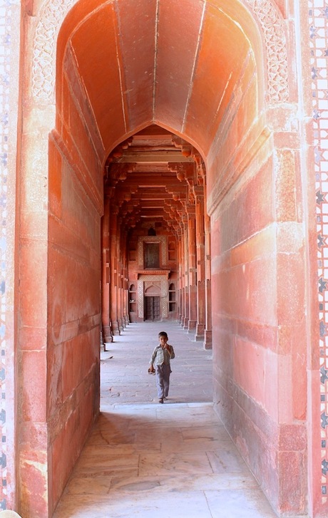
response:
M103 275L104 340L111 341L129 320L174 318L210 348L210 225L202 157L153 124L116 146L105 169L102 257L110 275ZM135 287L130 304L119 293L125 276ZM155 299L150 289L157 290Z

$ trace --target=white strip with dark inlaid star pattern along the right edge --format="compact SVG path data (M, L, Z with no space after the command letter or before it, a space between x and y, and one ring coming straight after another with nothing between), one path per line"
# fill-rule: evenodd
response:
M314 175L317 196L320 415L322 504L328 497L328 1L309 1L314 128Z

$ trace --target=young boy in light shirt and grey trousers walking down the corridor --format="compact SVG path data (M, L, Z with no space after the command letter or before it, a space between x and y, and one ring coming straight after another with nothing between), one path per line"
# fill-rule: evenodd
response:
M159 403L164 403L168 398L168 389L170 388L170 360L175 358L173 346L168 343L168 333L161 331L158 333L159 345L155 347L150 358L150 371L154 371L156 367L156 385Z

